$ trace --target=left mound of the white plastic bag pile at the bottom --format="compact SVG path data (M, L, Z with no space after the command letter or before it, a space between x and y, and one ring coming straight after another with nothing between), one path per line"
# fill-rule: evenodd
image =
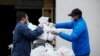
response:
M49 43L44 46L39 46L31 51L31 56L56 56L54 48Z

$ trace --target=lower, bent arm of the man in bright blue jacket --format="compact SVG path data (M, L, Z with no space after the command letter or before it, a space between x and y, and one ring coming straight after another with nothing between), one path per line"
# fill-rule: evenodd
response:
M71 35L60 32L59 36L63 39L74 42L84 32L84 30L85 30L84 24L79 23L78 25L75 26Z

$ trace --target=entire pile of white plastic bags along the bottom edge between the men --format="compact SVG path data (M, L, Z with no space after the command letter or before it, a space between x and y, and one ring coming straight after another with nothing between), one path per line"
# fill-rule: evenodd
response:
M72 49L61 47L57 51L49 43L44 46L39 46L31 51L31 56L75 56Z

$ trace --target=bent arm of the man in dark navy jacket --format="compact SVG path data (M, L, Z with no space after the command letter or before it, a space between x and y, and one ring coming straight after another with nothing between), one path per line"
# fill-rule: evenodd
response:
M31 31L27 25L22 25L20 28L20 32L26 38L34 40L43 33L43 30L41 27L37 27L35 30Z

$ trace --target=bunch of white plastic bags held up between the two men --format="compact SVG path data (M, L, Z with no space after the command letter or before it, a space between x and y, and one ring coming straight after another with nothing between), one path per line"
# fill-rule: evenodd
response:
M39 18L38 22L39 22L39 24L43 24L44 33L41 36L39 36L38 38L42 39L42 40L52 41L52 40L54 40L55 35L51 34L49 31L50 31L50 29L55 29L55 27L53 26L53 23L49 23L48 20L49 20L49 17L42 16Z

